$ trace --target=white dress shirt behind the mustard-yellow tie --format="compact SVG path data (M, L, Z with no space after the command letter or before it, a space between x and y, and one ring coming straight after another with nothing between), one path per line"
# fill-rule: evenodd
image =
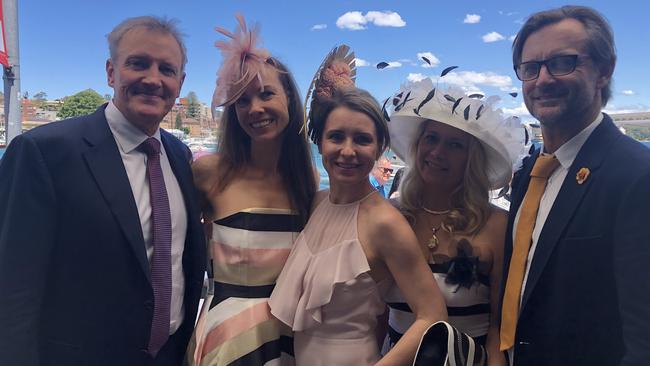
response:
M539 240L539 236L542 233L542 229L544 228L544 223L548 218L549 212L551 212L551 208L553 207L553 203L555 202L558 193L560 193L560 188L562 188L564 179L567 177L567 174L569 173L569 169L571 168L573 161L575 160L576 156L578 156L580 149L582 149L582 146L585 144L589 136L591 136L591 133L594 132L596 127L598 127L598 125L600 125L602 121L603 121L603 114L599 113L598 117L596 117L596 119L592 123L590 123L585 129L580 131L577 135L573 136L569 141L565 142L562 146L560 146L559 149L555 151L555 157L560 162L560 166L557 169L555 169L555 171L548 178L548 181L546 182L546 188L544 189L544 194L542 195L542 198L539 202L539 209L537 210L537 219L535 220L535 227L533 229L532 243L530 244L530 250L528 251L528 258L526 259L526 271L524 272L524 282L521 286L521 295L519 297L520 308L521 308L521 301L524 298L524 290L526 289L526 282L528 281L528 272L530 271L530 264L532 263L533 257L535 256L535 249L537 249L537 241ZM543 145L542 145L542 154L545 154ZM570 178L573 179L572 177ZM517 230L517 224L519 223L520 214L521 214L521 206L519 206L519 209L517 210L517 215L515 216L514 225L512 226L511 234L512 234L513 245L515 243L515 232ZM513 349L510 348L508 350L508 353L510 354L510 364L512 365L513 355L514 355Z

